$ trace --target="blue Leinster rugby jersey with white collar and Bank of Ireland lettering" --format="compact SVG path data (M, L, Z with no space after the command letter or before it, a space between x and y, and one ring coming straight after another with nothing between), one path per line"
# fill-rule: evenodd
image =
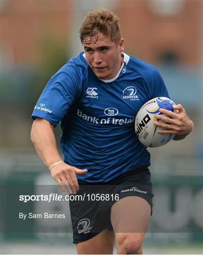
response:
M124 54L115 78L101 80L80 53L47 83L32 118L62 128L64 162L88 173L80 183L107 182L136 166L150 165L150 153L137 139L134 119L141 106L168 97L159 72Z

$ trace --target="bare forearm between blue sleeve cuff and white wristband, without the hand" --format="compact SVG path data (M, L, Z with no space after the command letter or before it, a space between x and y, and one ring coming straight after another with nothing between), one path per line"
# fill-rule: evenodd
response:
M56 139L51 124L44 119L36 119L31 130L31 140L37 154L49 168L56 162L62 161L58 152Z

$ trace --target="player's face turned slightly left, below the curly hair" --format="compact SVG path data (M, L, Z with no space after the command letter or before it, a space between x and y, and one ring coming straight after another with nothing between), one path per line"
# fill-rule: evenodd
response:
M83 44L83 47L86 60L98 78L112 79L117 75L123 62L123 38L116 45L111 38L99 33L96 43Z

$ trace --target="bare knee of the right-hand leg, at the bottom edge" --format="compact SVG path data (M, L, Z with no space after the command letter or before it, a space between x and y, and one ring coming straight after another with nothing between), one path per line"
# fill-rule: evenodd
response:
M142 241L139 238L121 238L117 241L117 248L121 254L142 254Z

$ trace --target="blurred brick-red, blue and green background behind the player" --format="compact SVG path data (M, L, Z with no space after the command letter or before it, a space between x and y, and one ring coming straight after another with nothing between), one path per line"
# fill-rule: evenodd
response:
M31 113L49 78L82 51L79 26L88 11L100 7L120 18L125 53L157 67L170 98L194 121L194 131L185 140L150 149L154 216L143 252L202 254L202 0L1 0L1 184L35 189L50 179L30 140ZM60 127L55 133L60 147ZM6 193L1 230L9 227L6 216L17 207ZM34 203L30 207L35 210ZM37 233L36 222L30 233L1 233L0 253L76 254L71 233L49 227Z

